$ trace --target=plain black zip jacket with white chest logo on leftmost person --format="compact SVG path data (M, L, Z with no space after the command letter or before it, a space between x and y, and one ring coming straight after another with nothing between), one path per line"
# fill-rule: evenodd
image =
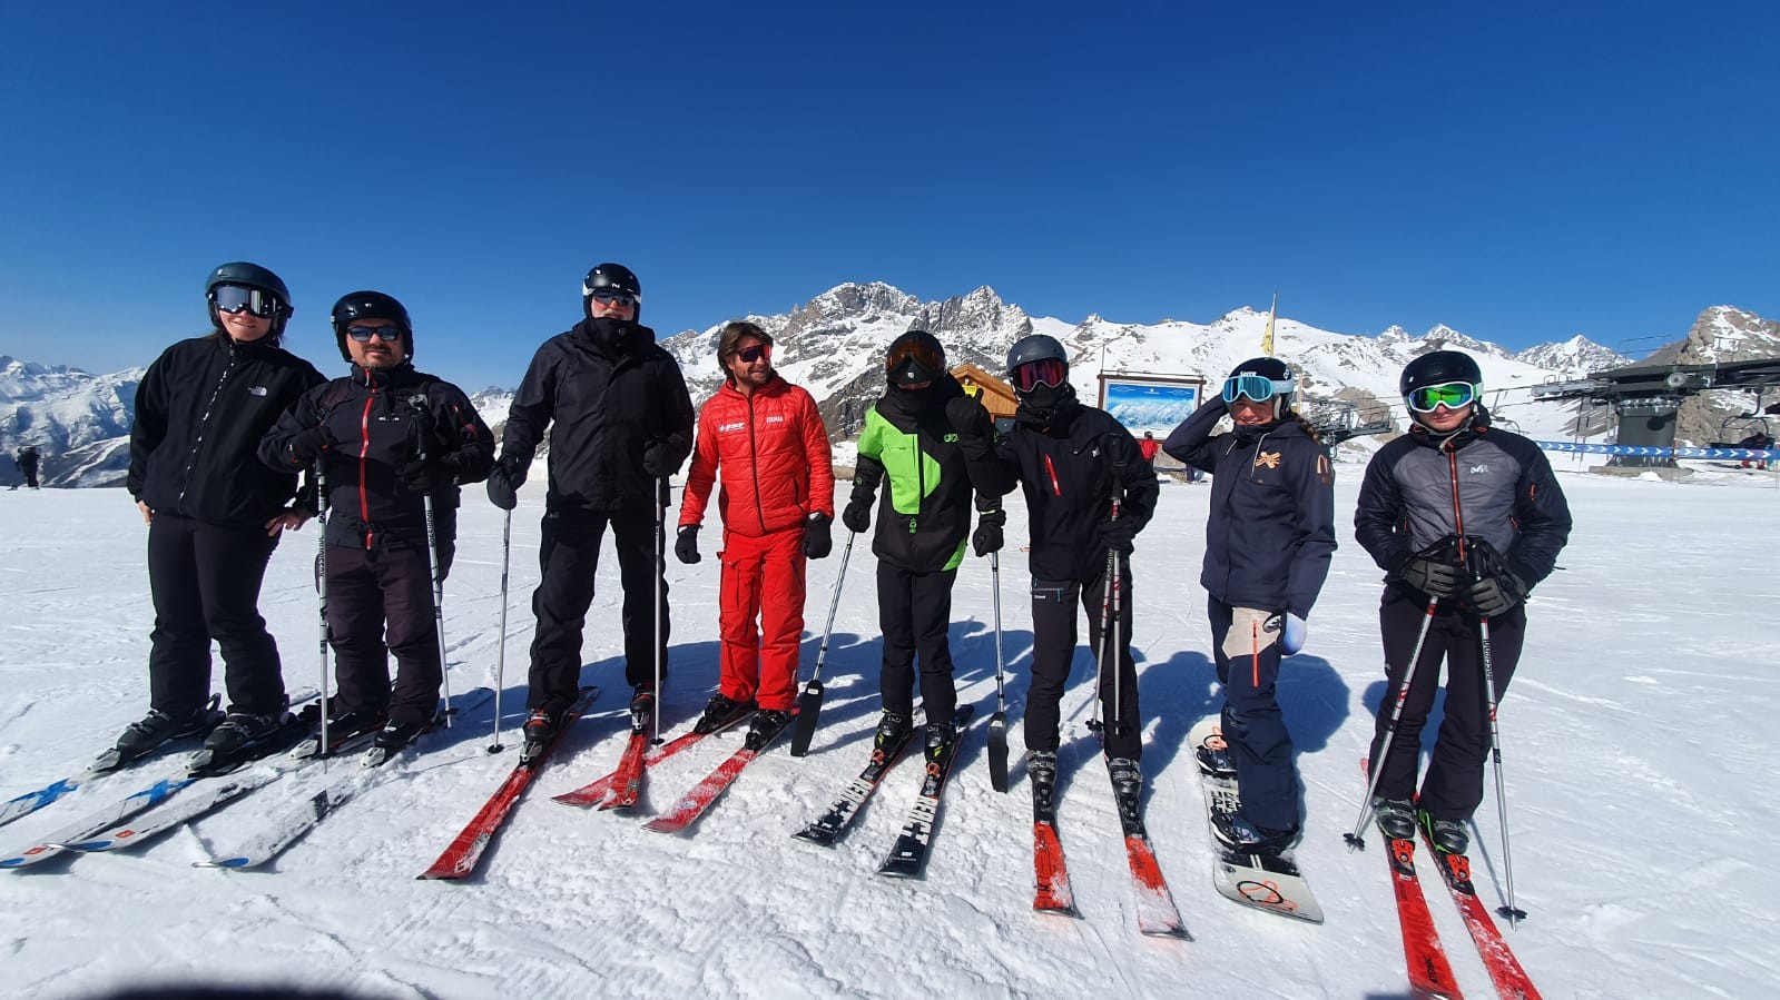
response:
M130 495L157 514L263 525L295 496L297 475L265 468L255 457L260 438L322 381L263 340L210 335L167 347L135 388Z

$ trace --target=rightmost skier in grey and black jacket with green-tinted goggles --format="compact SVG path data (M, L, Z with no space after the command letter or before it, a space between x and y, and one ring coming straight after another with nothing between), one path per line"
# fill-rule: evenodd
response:
M1436 847L1463 854L1465 822L1483 802L1490 721L1483 698L1479 619L1488 619L1495 698L1508 690L1525 639L1522 603L1550 575L1570 537L1570 507L1545 452L1490 427L1479 402L1483 372L1458 351L1433 351L1403 368L1410 432L1372 456L1360 486L1355 536L1387 571L1378 610L1390 689L1372 737L1381 769L1372 810L1385 836L1408 840L1417 822ZM1435 603L1429 619L1428 607ZM1390 753L1390 708L1412 669ZM1415 794L1420 733L1447 664L1445 721ZM1415 795L1412 799L1412 795Z

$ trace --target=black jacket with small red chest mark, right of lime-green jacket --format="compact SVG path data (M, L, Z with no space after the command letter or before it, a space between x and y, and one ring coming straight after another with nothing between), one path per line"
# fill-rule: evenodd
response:
M993 448L1000 491L1018 480L1025 493L1034 580L1089 582L1105 573L1100 525L1112 512L1114 486L1123 489L1120 520L1143 530L1155 514L1155 468L1130 431L1104 409L1070 400L1045 420L1022 406L1013 431Z

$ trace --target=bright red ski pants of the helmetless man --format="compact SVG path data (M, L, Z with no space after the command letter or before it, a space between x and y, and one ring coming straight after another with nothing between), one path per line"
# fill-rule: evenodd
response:
M724 698L789 712L797 701L797 649L803 641L803 528L769 536L723 532ZM755 619L760 625L755 625Z

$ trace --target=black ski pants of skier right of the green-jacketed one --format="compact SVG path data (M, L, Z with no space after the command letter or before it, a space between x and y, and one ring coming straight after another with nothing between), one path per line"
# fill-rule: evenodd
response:
M1102 731L1107 758L1143 758L1143 715L1137 712L1137 664L1130 657L1130 559L1118 566L1118 667L1100 669ZM1025 698L1025 749L1056 751L1063 721L1063 687L1075 660L1077 605L1088 614L1088 646L1098 662L1107 655L1100 619L1107 616L1107 584L1032 580L1032 687Z

